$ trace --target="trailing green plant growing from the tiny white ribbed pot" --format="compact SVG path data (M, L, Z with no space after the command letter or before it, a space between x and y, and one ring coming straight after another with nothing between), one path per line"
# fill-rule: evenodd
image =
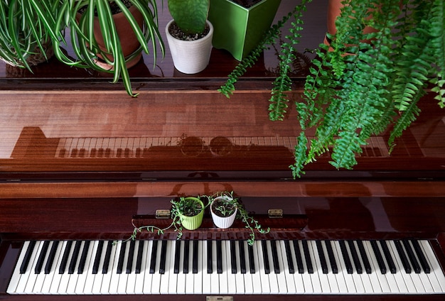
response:
M247 239L247 243L249 243L250 246L253 245L255 241L255 230L259 231L259 233L266 234L269 233L270 228L263 229L261 224L254 219L253 217L250 217L249 212L245 209L245 207L242 205L239 199L236 197L233 197L233 192L218 192L215 195L209 197L210 203L215 199L216 197L224 197L225 204L219 204L218 207L221 207L220 209L217 209L221 214L224 212L230 212L232 213L235 211L235 209L238 209L237 211L237 219L241 219L243 223L245 223L245 227L250 230L249 239ZM223 208L224 207L224 208ZM224 214L223 216L227 217L230 214Z

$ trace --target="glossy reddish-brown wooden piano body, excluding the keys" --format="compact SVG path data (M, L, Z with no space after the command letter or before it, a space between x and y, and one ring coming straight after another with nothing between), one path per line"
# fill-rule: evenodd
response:
M444 270L445 111L427 95L422 114L391 155L385 135L374 137L354 170L335 170L328 158L320 158L293 180L288 166L299 128L292 107L284 121L268 120L265 70L273 67L271 52L262 59L264 65L240 80L231 99L216 91L236 63L221 50L213 50L208 69L193 77L175 72L168 56L159 70L151 70L144 56L132 70L140 92L134 99L107 77L54 60L23 78L0 65L0 300L205 300L205 295L7 295L6 287L23 241L125 239L133 217L168 209L173 197L221 190L233 190L272 226L258 239L427 239ZM294 97L303 80L295 77ZM268 209L282 209L284 219L271 221ZM291 217L304 217L303 226L301 218ZM167 232L161 238L174 236ZM184 239L244 238L239 224L217 230L208 215L203 228L184 234ZM234 300L277 297L295 299L235 295ZM419 295L341 297L417 300ZM422 298L444 300L444 295Z

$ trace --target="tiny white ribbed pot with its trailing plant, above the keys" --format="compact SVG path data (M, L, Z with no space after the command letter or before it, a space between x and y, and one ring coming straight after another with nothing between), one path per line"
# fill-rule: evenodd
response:
M239 199L233 197L233 192L218 192L209 197L210 212L212 214L213 223L221 229L227 229L232 226L235 217L241 219L245 223L245 227L250 230L247 243L250 246L255 241L255 230L259 233L269 233L270 229L263 229L259 222L250 217L249 212L245 209Z

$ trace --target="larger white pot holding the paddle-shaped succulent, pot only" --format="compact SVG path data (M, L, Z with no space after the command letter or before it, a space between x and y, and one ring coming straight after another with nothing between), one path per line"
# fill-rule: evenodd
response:
M186 74L195 74L203 71L210 61L210 53L212 52L212 23L207 21L210 31L208 35L199 40L178 40L173 38L168 33L171 23L173 23L173 20L168 22L166 26L166 36L175 68Z

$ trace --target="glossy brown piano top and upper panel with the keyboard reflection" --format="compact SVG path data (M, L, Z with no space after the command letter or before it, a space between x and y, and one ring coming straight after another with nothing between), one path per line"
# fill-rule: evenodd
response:
M290 1L282 1L276 20L290 5ZM323 40L323 9L326 7L309 6L301 53ZM169 19L164 9L160 28ZM268 119L271 72L277 67L274 49L264 52L239 80L237 92L226 99L217 89L236 64L224 50L213 49L210 65L203 72L183 75L174 70L168 50L155 68L151 56L144 55L130 70L134 91L140 93L132 99L122 84L109 84L109 75L68 67L54 58L33 73L21 70L12 74L1 62L0 180L48 180L62 174L72 177L73 173L133 180L195 175L290 180L289 165L294 162L299 127L292 104L284 121ZM293 98L299 97L304 75L294 76ZM303 179L443 178L445 111L430 96L424 97L420 106L422 114L397 141L391 155L385 133L363 148L354 170L337 171L325 156L307 166ZM185 146L191 137L197 137L203 146L196 142ZM222 153L213 153L210 147L217 137L220 143L229 143L219 148ZM60 155L64 141L80 144ZM115 158L117 143L121 158ZM89 158L92 148L105 152L110 144L114 158L103 154L98 158L97 153ZM82 148L87 153L83 158L79 155ZM77 154L73 155L73 149Z

